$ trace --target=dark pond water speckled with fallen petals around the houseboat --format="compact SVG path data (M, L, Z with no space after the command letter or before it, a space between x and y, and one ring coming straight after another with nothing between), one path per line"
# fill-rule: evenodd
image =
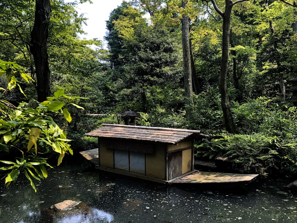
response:
M245 189L211 190L99 172L83 159L50 169L37 192L26 178L0 187L1 223L37 223L44 210L64 200L82 201L91 215L60 216L51 222L297 222L297 195L283 180L253 182Z

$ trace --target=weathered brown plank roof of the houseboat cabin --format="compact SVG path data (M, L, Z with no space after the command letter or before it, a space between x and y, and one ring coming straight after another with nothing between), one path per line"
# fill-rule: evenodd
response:
M87 136L117 139L135 139L150 142L175 144L188 136L200 136L200 131L175 128L146 127L136 125L102 124L103 127L86 133Z

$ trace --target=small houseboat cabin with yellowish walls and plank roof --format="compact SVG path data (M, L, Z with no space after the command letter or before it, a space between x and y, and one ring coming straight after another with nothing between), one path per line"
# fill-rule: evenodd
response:
M99 169L170 182L194 171L194 138L200 131L103 124L87 136L98 137Z

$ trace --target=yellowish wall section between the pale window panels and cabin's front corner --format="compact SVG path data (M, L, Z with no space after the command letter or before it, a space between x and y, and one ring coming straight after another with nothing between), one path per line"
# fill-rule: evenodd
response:
M146 176L165 180L166 145L154 146L154 153L146 153Z

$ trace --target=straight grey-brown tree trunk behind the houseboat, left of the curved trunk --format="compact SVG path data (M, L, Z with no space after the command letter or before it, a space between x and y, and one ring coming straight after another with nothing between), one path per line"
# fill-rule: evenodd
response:
M182 7L185 8L186 1L181 1ZM190 56L190 43L189 43L189 17L182 15L181 19L181 40L183 48L184 59L184 85L185 85L185 105L186 116L192 113L193 105L193 90L192 90L192 71L191 71L191 56ZM190 106L190 108L188 108Z

